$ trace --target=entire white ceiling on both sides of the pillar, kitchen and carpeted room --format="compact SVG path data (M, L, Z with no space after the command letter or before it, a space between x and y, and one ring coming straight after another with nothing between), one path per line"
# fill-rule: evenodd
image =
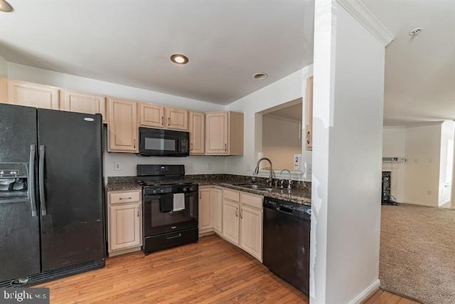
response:
M455 0L363 0L386 48L385 125L455 119ZM228 104L313 61L314 1L9 0L0 55ZM411 38L412 28L423 27ZM169 61L185 53L188 65ZM252 74L265 72L267 80Z

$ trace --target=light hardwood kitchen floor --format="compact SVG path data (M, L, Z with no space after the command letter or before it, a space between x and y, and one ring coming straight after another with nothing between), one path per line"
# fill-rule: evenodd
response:
M108 258L105 268L39 286L50 288L53 304L309 303L304 293L218 236L149 256ZM379 290L365 303L416 303L396 297Z

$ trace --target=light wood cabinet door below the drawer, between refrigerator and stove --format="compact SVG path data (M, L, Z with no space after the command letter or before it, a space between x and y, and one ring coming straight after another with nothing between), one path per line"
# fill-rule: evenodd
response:
M109 206L109 252L141 246L140 204Z

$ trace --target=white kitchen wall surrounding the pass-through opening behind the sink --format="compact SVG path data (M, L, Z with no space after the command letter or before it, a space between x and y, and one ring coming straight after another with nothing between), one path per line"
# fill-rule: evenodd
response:
M305 96L306 78L311 75L313 75L313 65L309 65L295 73L291 73L290 75L267 85L265 88L257 90L244 98L240 98L240 100L237 100L226 107L226 109L230 111L243 112L245 123L243 156L229 157L226 159L227 173L252 175L257 162L257 152L262 152L259 151L260 148L257 147L257 145L259 145L258 142L255 142L256 113ZM305 113L303 113L302 117L305 117ZM305 134L305 130L303 130L302 134ZM308 154L311 155L311 152L304 153L304 157L308 156ZM304 163L311 167L311 157L306 157ZM267 174L264 176L266 175ZM309 180L310 178L311 177L308 176L306 177L306 180Z

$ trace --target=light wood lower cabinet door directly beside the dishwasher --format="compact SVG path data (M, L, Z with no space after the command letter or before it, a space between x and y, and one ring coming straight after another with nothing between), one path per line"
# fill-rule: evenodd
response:
M243 205L240 225L240 248L262 261L262 212Z

